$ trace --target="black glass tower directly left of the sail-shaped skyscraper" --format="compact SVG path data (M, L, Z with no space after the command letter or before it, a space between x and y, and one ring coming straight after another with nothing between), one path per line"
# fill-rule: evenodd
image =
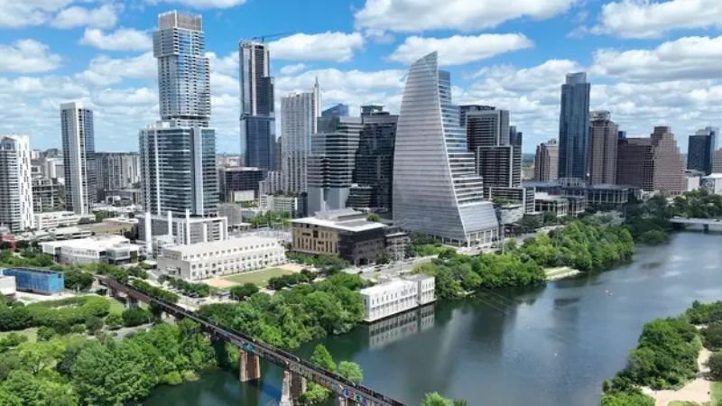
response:
M390 211L393 201L393 144L399 116L385 112L383 106L362 106L361 111L364 127L356 152L354 183L370 188L370 208Z

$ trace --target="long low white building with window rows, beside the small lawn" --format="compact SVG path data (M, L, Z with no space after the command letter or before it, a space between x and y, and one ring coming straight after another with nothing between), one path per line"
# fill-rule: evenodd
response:
M286 263L285 251L278 239L259 236L176 245L163 248L158 269L196 281L281 265Z

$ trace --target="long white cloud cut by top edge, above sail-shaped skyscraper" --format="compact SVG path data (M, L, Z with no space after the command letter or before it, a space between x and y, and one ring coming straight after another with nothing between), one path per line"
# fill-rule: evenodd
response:
M366 0L356 28L394 32L473 31L522 17L542 20L565 13L575 0Z

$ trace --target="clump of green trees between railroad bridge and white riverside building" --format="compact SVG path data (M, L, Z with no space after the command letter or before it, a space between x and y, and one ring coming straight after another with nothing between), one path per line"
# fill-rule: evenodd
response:
M325 281L277 291L258 292L241 303L202 306L199 314L229 328L244 331L273 346L295 348L329 334L340 334L364 318L357 290L358 275L337 273Z

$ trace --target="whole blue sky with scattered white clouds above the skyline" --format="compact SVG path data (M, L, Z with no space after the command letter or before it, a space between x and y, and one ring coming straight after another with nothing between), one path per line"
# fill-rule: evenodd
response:
M458 103L511 110L524 151L556 137L560 84L586 70L592 109L632 136L722 126L718 0L0 0L0 133L60 146L60 103L83 100L98 151L135 151L157 120L150 35L157 14L203 15L218 151L240 148L236 47L268 40L276 98L310 88L324 106L397 112L405 69L429 51ZM278 105L278 103L277 103Z

